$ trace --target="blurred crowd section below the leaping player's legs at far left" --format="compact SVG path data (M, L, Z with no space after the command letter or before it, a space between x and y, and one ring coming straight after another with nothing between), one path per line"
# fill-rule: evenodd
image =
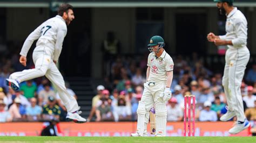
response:
M66 82L66 87L69 85ZM71 96L75 93L68 88ZM26 81L17 91L0 87L0 122L5 121L65 121L66 108L48 79L41 84Z

